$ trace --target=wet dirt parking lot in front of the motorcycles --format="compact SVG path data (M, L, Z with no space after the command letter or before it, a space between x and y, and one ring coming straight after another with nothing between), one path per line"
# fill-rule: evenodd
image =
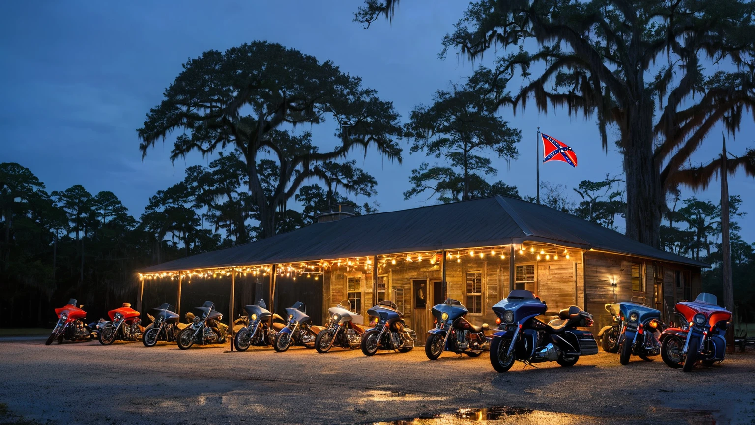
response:
M498 374L487 353L430 361L422 347L366 357L14 340L0 358L0 423L755 423L753 352L689 374L605 353Z

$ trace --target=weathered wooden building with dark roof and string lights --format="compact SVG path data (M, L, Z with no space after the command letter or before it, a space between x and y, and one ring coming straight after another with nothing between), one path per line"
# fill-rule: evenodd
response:
M244 275L256 283L254 298L273 298L276 311L306 288L309 299L300 300L318 304L310 315L321 322L343 299L363 315L393 299L422 336L430 308L445 297L467 306L473 323L492 324L491 307L512 289L532 290L550 312L580 306L594 330L611 321L606 302L644 302L670 320L677 301L701 291L702 267L556 209L495 196L368 216L338 206L305 228L155 265L140 277Z

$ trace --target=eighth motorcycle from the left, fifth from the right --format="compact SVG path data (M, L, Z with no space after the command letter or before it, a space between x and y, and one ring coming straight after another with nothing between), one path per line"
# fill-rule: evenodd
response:
M417 333L404 323L404 314L399 312L396 302L388 299L378 302L367 310L375 318L375 326L362 333L362 352L374 355L378 349L409 352L414 348Z

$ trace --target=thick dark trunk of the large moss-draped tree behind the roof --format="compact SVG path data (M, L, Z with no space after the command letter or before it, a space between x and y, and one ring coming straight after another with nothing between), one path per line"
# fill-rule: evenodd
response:
M664 197L660 168L653 160L652 102L627 109L628 135L624 139L627 177L626 235L660 248Z

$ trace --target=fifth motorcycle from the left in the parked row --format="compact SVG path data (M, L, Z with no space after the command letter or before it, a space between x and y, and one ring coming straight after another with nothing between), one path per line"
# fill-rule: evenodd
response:
M277 314L267 310L264 299L254 306L245 306L246 316L237 319L234 324L236 337L233 345L239 351L246 351L250 346L271 346L278 332L285 327L285 321ZM272 319L272 325L271 325ZM237 325L241 325L236 329Z

